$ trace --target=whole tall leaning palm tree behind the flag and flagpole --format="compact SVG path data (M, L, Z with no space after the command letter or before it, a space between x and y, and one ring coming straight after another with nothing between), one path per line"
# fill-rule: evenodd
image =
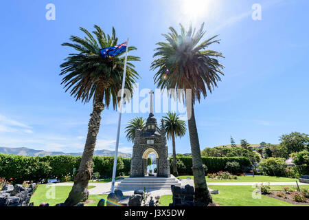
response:
M70 90L71 96L84 103L93 99L93 112L88 124L88 135L82 153L82 160L78 173L73 179L74 184L65 205L73 206L80 201L86 201L89 196L87 191L88 181L91 179L92 158L95 149L95 142L100 129L101 113L104 107L109 107L113 102L113 109L117 108L120 98L117 96L119 89L122 89L122 76L124 71L124 52L117 56L100 56L100 49L117 45L115 29L110 36L103 32L98 25L94 26L95 31L91 34L88 30L80 28L86 34L84 38L71 36L72 43L62 43L63 46L72 47L77 52L69 54L65 62L60 65L62 85ZM96 39L95 39L96 38ZM137 50L136 47L128 47L128 51ZM125 88L133 91L139 74L130 61L139 61L137 56L128 56L128 67L126 69ZM126 97L129 99L130 97Z

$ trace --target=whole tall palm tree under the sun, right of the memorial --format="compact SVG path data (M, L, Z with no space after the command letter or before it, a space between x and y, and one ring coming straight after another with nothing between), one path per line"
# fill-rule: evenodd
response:
M181 25L181 34L178 34L174 28L170 27L170 33L163 34L168 42L157 43L159 47L155 50L154 57L158 56L158 58L152 62L150 67L152 70L157 69L154 80L158 88L167 89L172 94L179 91L177 89L183 89L184 92L176 94L175 97L186 96L196 206L207 206L212 199L207 188L201 158L194 103L200 102L201 96L206 98L207 90L211 93L214 87L217 87L217 82L221 80L220 75L223 75L221 69L224 68L217 60L224 56L220 52L206 50L209 45L219 43L220 40L216 40L216 36L213 36L199 43L205 34L203 28L204 23L198 32L195 32L195 29L192 30L191 26L186 31ZM192 96L188 98L190 91Z

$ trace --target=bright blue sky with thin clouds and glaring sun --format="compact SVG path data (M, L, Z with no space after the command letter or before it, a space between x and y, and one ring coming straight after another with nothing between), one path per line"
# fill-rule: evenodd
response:
M45 6L54 3L56 20L47 21ZM253 3L262 20L253 21ZM309 133L307 0L170 0L170 1L4 1L0 8L0 146L80 152L84 148L91 103L82 104L60 85L60 64L72 52L61 43L79 27L106 33L114 26L119 43L130 37L137 47L140 89L155 89L152 55L162 33L179 23L219 34L225 55L222 82L200 104L196 121L201 149L247 139L277 143L280 135ZM142 99L142 98L141 98ZM130 153L124 126L136 116L124 113L119 150ZM163 113L155 114L159 120ZM98 149L115 148L117 112L104 110ZM169 152L171 151L171 142ZM189 136L176 140L178 153L190 152Z

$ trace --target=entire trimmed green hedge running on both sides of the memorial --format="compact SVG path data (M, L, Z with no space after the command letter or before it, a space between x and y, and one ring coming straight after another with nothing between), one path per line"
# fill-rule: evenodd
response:
M192 157L177 157L179 175L192 175ZM241 166L250 166L247 157L202 157L207 166L207 173L225 171L227 162L238 162ZM0 153L0 177L13 179L14 184L25 180L39 181L57 177L62 181L65 176L73 175L73 168L78 168L81 156L44 156L25 157ZM93 157L93 172L100 173L103 178L110 178L113 173L114 157ZM172 172L172 157L170 158ZM130 158L117 158L116 175L129 175Z

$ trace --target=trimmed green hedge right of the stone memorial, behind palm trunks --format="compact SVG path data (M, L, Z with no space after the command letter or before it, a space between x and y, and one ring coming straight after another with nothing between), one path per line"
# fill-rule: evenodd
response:
M177 167L179 175L193 175L192 157L176 157L180 159L185 166ZM170 157L170 170L172 173L172 157ZM217 173L225 170L227 162L238 162L240 167L251 166L250 159L247 157L202 157L203 164L207 166L207 173Z

